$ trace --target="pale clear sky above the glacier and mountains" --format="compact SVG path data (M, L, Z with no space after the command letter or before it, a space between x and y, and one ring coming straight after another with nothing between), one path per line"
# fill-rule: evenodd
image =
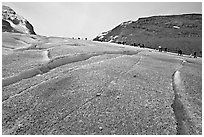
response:
M201 2L3 2L39 35L93 39L140 17L202 13Z

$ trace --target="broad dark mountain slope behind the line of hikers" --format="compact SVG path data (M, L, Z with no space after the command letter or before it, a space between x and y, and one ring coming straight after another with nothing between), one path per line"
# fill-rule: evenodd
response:
M181 49L185 54L202 51L202 14L152 16L127 21L93 40L145 47ZM201 54L200 54L201 55Z

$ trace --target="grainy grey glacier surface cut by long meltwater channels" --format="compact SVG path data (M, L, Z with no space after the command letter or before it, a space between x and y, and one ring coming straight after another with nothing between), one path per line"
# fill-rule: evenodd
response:
M2 33L5 135L201 135L202 59Z

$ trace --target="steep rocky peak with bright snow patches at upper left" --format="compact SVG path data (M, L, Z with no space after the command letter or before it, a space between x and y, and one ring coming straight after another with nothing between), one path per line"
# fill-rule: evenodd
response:
M36 35L33 26L8 6L2 6L2 32Z

